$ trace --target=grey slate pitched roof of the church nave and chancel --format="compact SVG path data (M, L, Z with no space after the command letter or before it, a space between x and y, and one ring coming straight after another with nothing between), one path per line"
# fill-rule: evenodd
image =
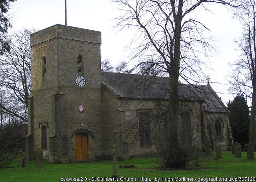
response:
M102 84L118 98L169 99L167 77L101 72ZM180 100L202 101L207 112L229 112L210 84L178 86Z

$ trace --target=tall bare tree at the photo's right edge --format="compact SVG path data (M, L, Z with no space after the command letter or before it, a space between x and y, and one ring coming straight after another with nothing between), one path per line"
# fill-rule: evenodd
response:
M242 52L241 59L234 64L230 83L232 89L243 94L251 101L250 131L247 158L254 159L254 146L256 143L256 1L239 0L242 6L237 8L235 17L243 24L243 33L238 43Z

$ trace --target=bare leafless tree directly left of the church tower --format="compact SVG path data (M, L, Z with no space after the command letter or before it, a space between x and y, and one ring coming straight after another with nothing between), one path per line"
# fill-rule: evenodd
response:
M5 35L10 50L0 56L1 112L27 122L31 87L31 49L28 29Z

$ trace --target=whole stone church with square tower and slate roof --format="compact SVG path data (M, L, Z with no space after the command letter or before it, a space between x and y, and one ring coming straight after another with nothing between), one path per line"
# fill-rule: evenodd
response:
M57 24L31 34L30 45L29 159L38 147L50 163L109 159L113 144L119 159L157 155L149 118L160 115L156 100L168 102L168 78L101 72L99 31ZM210 84L178 90L182 135L201 151L228 150L229 111Z

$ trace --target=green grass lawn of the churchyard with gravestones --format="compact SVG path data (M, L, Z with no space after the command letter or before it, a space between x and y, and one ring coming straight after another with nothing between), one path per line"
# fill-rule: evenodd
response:
M246 153L242 153L242 158L235 159L230 151L222 151L222 159L200 156L200 169L198 170L164 170L159 168L159 164L154 163L156 158L131 159L118 161L120 164L133 164L136 168L118 168L118 173L122 180L136 181L155 181L156 178L164 178L162 181L179 181L183 177L194 178L227 178L224 181L235 181L239 177L256 177L256 160L247 160ZM28 161L26 168L17 167L17 163L0 170L0 182L61 182L61 178L73 178L78 181L81 177L87 181L97 181L97 177L112 176L112 161L99 160L94 162L72 163L72 164L47 164L44 162L42 167L35 167L33 161ZM96 177L96 178L94 178ZM143 178L144 177L144 178ZM230 178L230 179L229 179ZM233 178L233 179L232 179ZM94 180L95 179L95 180ZM244 178L245 180L246 178ZM239 179L238 179L239 180ZM68 181L68 180L66 180ZM70 181L70 180L69 180ZM103 179L98 179L103 181ZM157 180L156 180L157 181ZM201 180L206 181L206 179ZM209 180L210 181L210 180ZM240 179L239 181L242 181ZM248 178L246 181L255 181L255 178Z

